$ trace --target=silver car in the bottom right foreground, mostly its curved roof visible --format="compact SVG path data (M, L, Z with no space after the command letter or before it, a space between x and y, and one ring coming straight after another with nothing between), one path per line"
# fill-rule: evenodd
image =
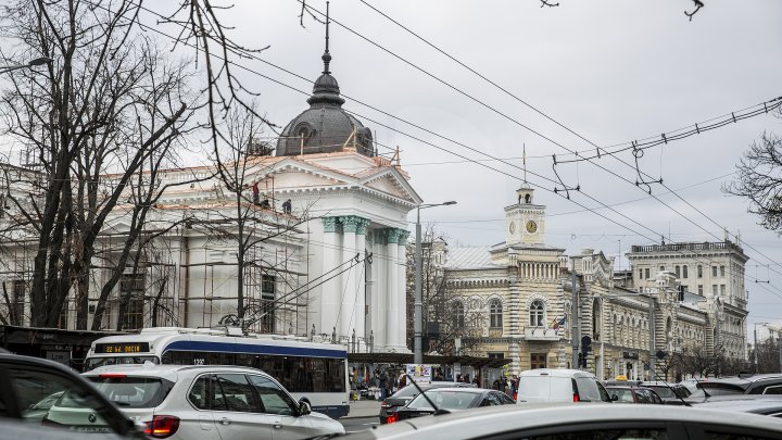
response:
M349 439L782 439L782 419L670 405L547 403L412 418L345 436Z

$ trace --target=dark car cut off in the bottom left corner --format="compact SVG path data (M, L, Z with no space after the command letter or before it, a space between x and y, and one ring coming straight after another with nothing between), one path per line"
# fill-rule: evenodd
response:
M86 417L54 407L78 408ZM92 385L62 364L16 354L0 353L0 417L30 426L109 438L143 439L143 432ZM43 435L42 437L45 437ZM98 437L100 438L100 437Z

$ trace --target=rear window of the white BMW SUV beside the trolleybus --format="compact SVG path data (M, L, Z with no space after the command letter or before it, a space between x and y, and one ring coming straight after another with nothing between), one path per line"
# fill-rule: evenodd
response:
M100 392L121 407L157 406L172 384L155 377L88 377Z

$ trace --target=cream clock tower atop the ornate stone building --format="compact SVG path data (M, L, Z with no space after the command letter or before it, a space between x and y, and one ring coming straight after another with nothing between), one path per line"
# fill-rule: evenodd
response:
M545 206L534 204L534 190L524 183L516 190L517 203L505 208L507 244L543 244Z

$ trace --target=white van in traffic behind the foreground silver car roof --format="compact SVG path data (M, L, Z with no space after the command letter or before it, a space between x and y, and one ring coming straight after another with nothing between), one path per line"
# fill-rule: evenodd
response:
M580 369L539 368L519 375L517 403L610 402L597 378Z

